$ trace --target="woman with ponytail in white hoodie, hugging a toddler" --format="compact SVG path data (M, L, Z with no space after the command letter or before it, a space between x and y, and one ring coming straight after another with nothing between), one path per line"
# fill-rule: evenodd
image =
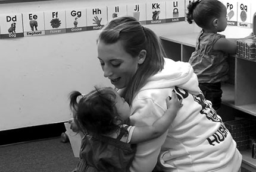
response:
M138 144L130 171L152 171L157 160L163 171L239 170L242 156L201 94L191 65L164 58L154 32L135 18L118 17L102 28L97 46L104 77L131 106L131 125L152 125L164 114L171 91L183 99L168 132Z

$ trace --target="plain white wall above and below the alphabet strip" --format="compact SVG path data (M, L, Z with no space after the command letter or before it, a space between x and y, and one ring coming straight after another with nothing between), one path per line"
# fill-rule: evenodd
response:
M106 1L41 1L0 4L0 14L102 5ZM108 1L109 4L127 1ZM129 1L130 2L147 2ZM186 22L152 24L158 35L192 32ZM111 85L96 58L98 31L0 39L0 130L64 122L68 93Z

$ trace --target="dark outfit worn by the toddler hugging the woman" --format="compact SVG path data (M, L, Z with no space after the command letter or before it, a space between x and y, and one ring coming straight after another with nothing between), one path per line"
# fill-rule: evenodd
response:
M126 172L136 152L130 144L135 126L123 125L117 138L86 135L82 139L77 172Z

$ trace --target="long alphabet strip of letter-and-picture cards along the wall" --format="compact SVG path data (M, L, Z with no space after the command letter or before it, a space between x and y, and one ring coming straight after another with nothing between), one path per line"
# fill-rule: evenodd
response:
M256 2L219 0L227 8L227 25L252 28ZM0 15L0 39L99 30L115 17L129 15L141 24L186 22L188 5L195 0L117 4L54 11L24 11Z

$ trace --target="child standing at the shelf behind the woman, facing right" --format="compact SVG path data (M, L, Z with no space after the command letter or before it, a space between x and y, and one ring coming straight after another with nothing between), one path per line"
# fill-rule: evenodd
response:
M218 34L227 27L227 9L218 0L198 0L188 5L186 17L189 24L193 20L202 28L189 63L205 98L218 110L221 106L221 82L228 79L227 57L237 52L236 39L226 39ZM249 37L252 36L246 38Z

